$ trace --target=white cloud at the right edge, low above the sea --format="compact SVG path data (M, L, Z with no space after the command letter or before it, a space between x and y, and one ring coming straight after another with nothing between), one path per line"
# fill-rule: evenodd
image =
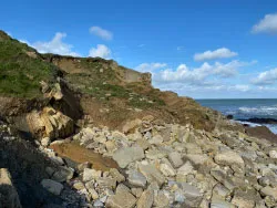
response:
M270 85L276 83L276 81L277 81L277 67L259 73L258 77L254 79L252 82L253 84L257 85Z

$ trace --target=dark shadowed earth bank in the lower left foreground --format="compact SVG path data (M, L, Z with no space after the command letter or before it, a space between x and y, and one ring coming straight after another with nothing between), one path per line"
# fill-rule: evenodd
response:
M69 186L64 185L65 194L60 196L41 186L41 180L49 178L45 167L54 164L30 142L10 135L1 124L0 167L9 169L23 208L80 207L83 197Z

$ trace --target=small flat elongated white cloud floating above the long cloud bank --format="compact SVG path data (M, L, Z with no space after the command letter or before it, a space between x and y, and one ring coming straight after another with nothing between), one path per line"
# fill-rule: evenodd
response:
M226 48L220 48L215 51L205 51L203 53L196 53L194 55L195 61L205 61L205 60L214 60L214 59L224 59L224 58L233 58L236 56L237 53L230 51Z

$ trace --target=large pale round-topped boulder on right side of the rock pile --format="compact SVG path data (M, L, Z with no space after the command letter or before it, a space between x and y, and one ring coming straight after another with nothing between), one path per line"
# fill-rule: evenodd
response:
M232 167L234 171L244 171L244 159L235 152L227 150L215 156L215 163Z

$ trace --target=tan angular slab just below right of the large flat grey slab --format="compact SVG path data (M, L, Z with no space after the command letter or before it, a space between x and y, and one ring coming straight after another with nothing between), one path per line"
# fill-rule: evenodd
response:
M158 186L162 186L165 183L164 176L154 165L138 165L140 171L146 177L147 181L157 183Z

